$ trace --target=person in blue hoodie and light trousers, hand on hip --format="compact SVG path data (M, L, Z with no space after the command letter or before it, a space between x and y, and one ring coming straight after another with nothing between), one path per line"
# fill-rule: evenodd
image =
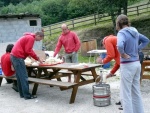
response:
M140 92L141 64L139 51L147 46L150 40L130 26L126 15L116 19L117 49L120 53L120 96L123 113L144 113ZM139 44L140 42L140 44Z

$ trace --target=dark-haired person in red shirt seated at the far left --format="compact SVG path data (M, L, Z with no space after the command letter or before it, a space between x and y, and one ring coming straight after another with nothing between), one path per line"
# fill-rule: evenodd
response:
M13 48L13 44L8 44L7 45L7 48L6 48L6 53L2 55L1 57L1 67L2 67L2 71L4 73L4 75L9 78L9 77L15 77L15 70L12 66L12 63L11 63L11 60L10 60L10 52ZM18 89L17 89L17 82L16 81L13 81L11 79L7 79L6 78L6 81L7 83L12 83L13 82L13 89L15 91L18 92Z

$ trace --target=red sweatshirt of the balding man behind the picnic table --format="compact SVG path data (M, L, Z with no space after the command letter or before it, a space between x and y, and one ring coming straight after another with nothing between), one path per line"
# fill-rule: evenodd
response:
M80 48L80 40L76 33L69 31L68 33L62 33L58 39L54 56L60 51L62 45L64 46L66 53L77 52Z

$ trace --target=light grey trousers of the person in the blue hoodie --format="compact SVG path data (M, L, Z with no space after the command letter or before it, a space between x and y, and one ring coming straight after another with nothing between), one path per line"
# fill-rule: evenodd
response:
M121 64L120 72L120 96L123 113L144 113L140 92L140 62Z

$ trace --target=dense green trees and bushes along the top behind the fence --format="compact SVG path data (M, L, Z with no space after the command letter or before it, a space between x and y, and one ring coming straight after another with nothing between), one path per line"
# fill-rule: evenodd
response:
M0 0L0 14L38 13L43 25L94 13L109 13L114 20L127 1L137 0Z

